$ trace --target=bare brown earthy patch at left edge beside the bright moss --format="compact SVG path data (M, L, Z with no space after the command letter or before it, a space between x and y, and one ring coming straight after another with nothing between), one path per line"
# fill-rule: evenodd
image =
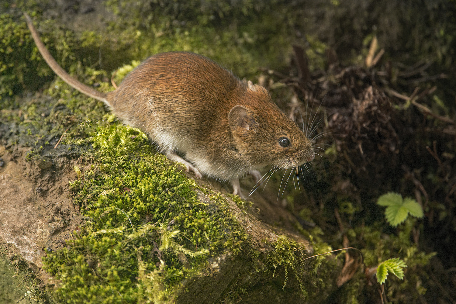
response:
M69 194L76 179L76 160L26 161L27 148L0 146L0 241L36 270L42 267L45 248L61 247L81 222ZM44 271L39 277L47 282Z

